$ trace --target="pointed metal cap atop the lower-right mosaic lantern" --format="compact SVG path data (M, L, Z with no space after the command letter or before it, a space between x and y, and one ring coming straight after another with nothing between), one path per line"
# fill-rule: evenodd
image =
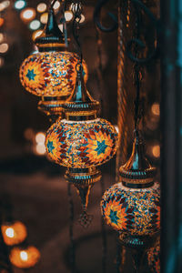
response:
M143 138L138 131L135 131L131 157L119 168L119 175L126 187L150 187L154 184L157 168L148 162Z

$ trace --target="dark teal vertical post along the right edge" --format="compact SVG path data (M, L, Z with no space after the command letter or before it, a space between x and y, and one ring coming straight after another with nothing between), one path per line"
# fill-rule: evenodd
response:
M161 273L182 272L182 2L161 0Z

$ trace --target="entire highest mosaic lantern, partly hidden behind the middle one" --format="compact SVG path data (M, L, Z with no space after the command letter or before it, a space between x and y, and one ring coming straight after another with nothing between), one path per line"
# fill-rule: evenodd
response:
M38 108L46 115L60 116L62 104L76 85L76 53L66 51L54 10L48 14L43 34L35 39L39 52L28 56L20 67L20 81L25 90L41 97ZM84 77L87 79L85 61Z

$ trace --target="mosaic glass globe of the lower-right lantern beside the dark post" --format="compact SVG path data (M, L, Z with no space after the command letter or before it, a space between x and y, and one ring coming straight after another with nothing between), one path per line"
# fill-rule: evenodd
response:
M116 230L130 235L148 235L160 228L159 198L157 184L131 189L118 183L106 190L101 210L106 224Z

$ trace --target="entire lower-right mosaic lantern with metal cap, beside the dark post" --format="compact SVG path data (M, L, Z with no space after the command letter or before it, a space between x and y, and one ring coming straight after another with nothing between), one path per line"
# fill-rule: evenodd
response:
M138 255L151 247L160 230L160 190L154 182L156 168L144 156L137 133L132 155L119 173L121 182L106 190L101 210L106 224L119 232L121 243L135 248Z

